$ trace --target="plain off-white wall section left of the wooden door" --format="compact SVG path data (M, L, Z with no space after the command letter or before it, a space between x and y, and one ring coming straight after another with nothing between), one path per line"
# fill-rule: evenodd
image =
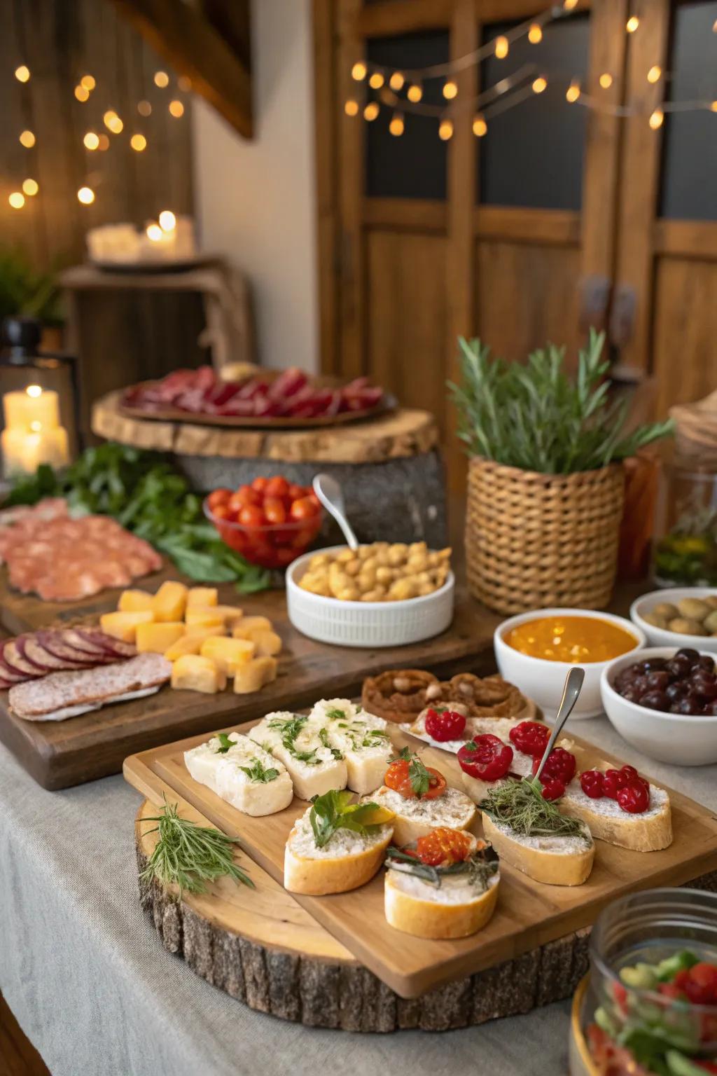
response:
M253 0L255 137L195 99L205 250L249 278L264 366L318 368L311 0Z

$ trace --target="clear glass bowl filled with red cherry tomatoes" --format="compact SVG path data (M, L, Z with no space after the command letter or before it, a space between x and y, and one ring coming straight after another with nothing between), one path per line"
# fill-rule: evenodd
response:
M321 528L321 506L312 487L281 475L255 478L238 490L214 490L204 499L204 514L230 549L262 568L286 568Z

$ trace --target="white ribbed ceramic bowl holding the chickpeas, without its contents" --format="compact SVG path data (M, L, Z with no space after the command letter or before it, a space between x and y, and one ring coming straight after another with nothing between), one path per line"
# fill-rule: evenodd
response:
M321 553L338 553L345 546L330 546ZM420 642L450 625L456 580L448 572L443 586L424 597L405 601L340 601L311 594L299 586L312 556L305 553L286 569L286 601L296 628L319 642L340 647L401 647Z

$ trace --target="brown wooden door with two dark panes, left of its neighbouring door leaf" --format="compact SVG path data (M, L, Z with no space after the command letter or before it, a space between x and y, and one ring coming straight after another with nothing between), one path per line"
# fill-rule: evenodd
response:
M542 0L315 0L322 368L368 373L436 413L455 484L445 382L457 373L456 338L479 335L510 358L550 339L574 355L587 325L606 320L619 143L618 119L567 102L569 79L540 97L528 88L524 103L488 117L485 137L461 102L544 66L618 103L627 0L580 2L540 43L524 37L506 58L462 70L447 141L436 118L408 112L392 137L393 108L352 67L443 63L545 10ZM605 71L612 84L599 89ZM444 81L426 81L424 101L441 103Z

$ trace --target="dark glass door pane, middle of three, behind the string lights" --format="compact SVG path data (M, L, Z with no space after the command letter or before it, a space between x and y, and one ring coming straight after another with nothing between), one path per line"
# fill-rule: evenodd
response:
M485 27L484 43L515 25ZM511 44L505 59L491 56L481 65L482 90L525 65L535 65L535 74L545 71L548 79L542 94L487 117L488 133L476 140L481 202L579 210L587 110L579 103L569 104L565 89L573 75L585 84L589 39L589 16L576 15L549 23L539 44L520 38ZM560 74L553 81L550 72Z

